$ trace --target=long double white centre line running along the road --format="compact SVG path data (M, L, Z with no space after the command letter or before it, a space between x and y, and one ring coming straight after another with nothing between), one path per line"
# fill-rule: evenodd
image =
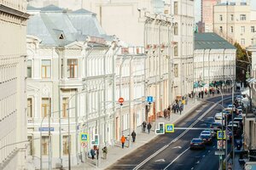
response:
M225 98L225 99L230 99L230 98ZM223 100L225 100L225 99L223 99ZM199 121L202 119L202 117L206 116L208 112L212 111L212 109L213 109L214 107L216 107L216 105L218 105L221 101L222 101L222 100L219 100L217 103L215 103L214 105L212 105L212 107L210 107L205 113L203 113L203 114L202 114L194 123L192 123L189 127L194 127L195 124L196 124L197 122L199 122ZM160 148L160 150L157 150L157 151L154 152L154 154L152 154L151 156L148 156L147 159L145 159L145 160L142 161L140 164L138 164L137 167L134 167L133 170L137 170L138 168L143 167L143 165L144 165L145 163L147 163L149 160L151 160L154 156L158 155L162 150L165 150L170 144L176 142L178 139L180 139L181 137L183 137L183 135L184 135L185 133L187 133L188 131L189 131L189 128L186 129L186 130L185 130L183 133L181 133L180 135L178 135L177 138L176 138L176 139L173 139L169 144L163 146L162 148Z

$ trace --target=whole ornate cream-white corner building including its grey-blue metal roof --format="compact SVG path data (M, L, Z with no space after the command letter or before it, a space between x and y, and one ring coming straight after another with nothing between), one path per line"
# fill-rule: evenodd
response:
M96 134L100 148L113 144L116 45L98 25L95 14L87 10L66 13L48 6L29 7L29 13L32 16L26 45L30 168L67 167L69 161L73 166L84 160ZM89 135L85 148L80 133Z

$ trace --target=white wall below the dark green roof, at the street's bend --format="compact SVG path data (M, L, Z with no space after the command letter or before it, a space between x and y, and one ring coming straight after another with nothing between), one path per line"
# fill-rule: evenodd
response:
M195 49L194 74L195 82L207 84L235 80L236 49Z

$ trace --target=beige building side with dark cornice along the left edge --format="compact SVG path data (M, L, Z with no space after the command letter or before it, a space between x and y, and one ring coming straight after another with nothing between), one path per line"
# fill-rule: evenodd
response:
M0 3L0 169L26 168L26 1Z

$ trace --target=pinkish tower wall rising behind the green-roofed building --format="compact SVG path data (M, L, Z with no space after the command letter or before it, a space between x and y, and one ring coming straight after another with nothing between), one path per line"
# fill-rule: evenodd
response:
M205 32L213 32L213 6L219 0L201 0L201 21L205 25Z

